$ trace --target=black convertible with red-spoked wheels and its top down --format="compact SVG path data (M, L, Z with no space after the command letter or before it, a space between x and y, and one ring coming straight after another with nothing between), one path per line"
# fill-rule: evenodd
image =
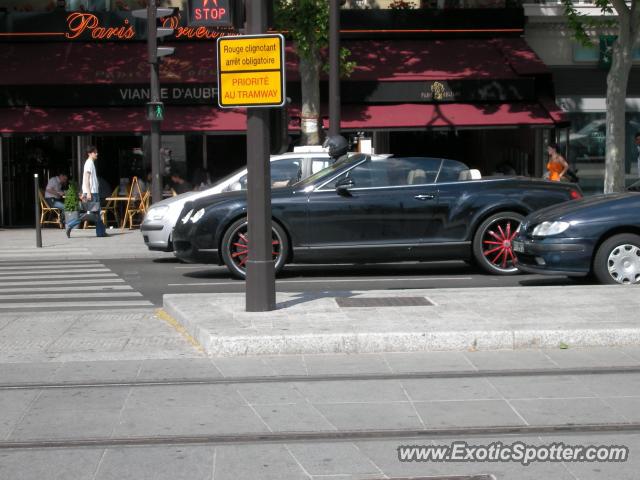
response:
M272 191L276 272L286 263L464 259L513 274L511 242L525 215L582 197L578 186L525 177L478 179L455 160L357 154ZM224 263L244 277L244 192L187 203L173 232L189 262Z

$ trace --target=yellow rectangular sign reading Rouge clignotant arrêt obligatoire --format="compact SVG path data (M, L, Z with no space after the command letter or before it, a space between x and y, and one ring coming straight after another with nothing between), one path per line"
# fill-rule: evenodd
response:
M285 103L284 37L220 37L218 104L222 108L281 107Z

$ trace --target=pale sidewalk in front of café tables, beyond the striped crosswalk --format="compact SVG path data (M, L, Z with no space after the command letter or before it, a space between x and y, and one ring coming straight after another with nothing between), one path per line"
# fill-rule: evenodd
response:
M43 228L42 248L38 248L34 228L0 228L0 261L173 257L173 253L150 251L140 230L109 228L107 233L108 238L97 238L94 229L76 228L67 238L62 229Z

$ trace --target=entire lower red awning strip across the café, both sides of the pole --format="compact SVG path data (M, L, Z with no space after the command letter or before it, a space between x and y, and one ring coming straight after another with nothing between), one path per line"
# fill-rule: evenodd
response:
M551 101L549 101L551 102ZM548 103L548 102L547 102ZM501 104L415 104L343 105L343 130L402 130L431 128L491 128L548 126L563 123L558 107L551 102ZM299 130L300 112L290 108L290 130ZM324 118L328 128L328 120ZM0 133L145 133L149 122L144 109L130 108L2 108ZM203 106L168 106L162 131L244 133L246 111Z

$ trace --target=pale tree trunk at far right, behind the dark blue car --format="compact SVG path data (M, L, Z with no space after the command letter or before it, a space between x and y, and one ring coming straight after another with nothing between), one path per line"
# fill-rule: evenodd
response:
M604 193L622 192L625 188L625 100L632 65L632 45L628 40L628 35L618 37L607 75Z

